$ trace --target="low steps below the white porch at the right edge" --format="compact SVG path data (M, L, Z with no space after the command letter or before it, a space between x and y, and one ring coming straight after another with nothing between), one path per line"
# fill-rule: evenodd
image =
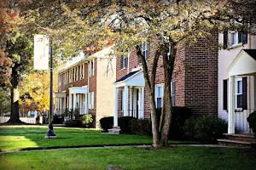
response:
M247 148L255 148L256 142L248 142L234 139L217 139L218 144L221 145L229 145L229 146L238 146L238 147L247 147Z

